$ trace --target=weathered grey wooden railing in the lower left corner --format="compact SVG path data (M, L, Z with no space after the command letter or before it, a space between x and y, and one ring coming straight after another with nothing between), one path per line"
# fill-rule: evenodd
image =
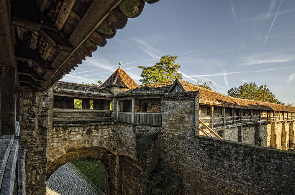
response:
M16 135L2 135L0 138L0 195L22 194L22 165L19 146L19 123Z

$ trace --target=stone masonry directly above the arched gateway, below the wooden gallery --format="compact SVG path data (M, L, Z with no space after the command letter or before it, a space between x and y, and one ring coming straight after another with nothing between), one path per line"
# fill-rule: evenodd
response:
M117 125L82 124L60 125L49 128L47 147L47 166L55 159L73 150L84 147L103 147L109 151L117 148Z

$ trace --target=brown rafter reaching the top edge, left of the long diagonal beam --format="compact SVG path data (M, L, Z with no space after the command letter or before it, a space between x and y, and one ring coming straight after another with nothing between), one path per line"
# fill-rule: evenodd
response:
M75 4L76 0L65 0L63 1L63 5L61 6L60 12L58 14L58 17L55 22L55 27L61 31L63 28L63 25L65 24L65 21L67 20L70 11Z

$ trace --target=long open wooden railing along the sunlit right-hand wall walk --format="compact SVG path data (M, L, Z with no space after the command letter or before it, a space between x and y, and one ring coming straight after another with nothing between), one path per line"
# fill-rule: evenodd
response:
M200 120L210 128L227 127L241 123L253 123L258 121L280 121L295 120L295 116L271 116L271 115L249 115L249 116L229 116L229 117L201 117ZM209 122L207 122L209 121ZM207 122L207 123L206 123ZM212 125L213 122L213 125Z

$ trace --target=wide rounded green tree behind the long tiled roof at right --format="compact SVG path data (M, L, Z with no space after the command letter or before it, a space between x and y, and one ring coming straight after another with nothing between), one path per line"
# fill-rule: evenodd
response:
M251 82L250 84L244 83L244 85L241 85L238 88L232 87L227 91L227 94L234 98L283 104L276 99L276 96L266 87L266 85L258 87L255 82Z

